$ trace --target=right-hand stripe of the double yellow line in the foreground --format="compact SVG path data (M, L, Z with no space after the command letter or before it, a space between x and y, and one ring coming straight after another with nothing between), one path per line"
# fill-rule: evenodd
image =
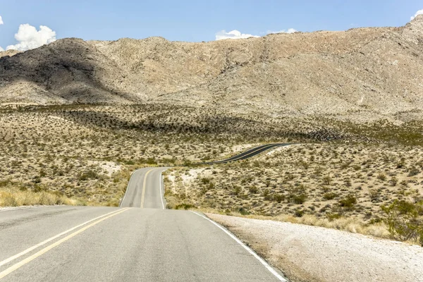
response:
M34 255L27 257L26 259L23 259L22 261L13 264L13 266L10 266L8 269L1 271L0 272L0 279L4 278L6 275L11 274L13 271L16 271L16 269L19 269L21 266L24 266L25 264L27 264L28 262L32 262L32 260L36 259L37 257L44 255L46 252L48 252L49 250L53 249L54 247L57 247L59 245L61 245L61 243L66 242L67 240L75 237L76 235L78 235L79 233L82 233L84 231L86 231L88 228L102 222L105 221L106 219L110 219L112 216L116 216L118 214L121 214L123 212L126 212L128 208L122 209L121 212L116 212L115 214L111 214L109 216L106 216L102 219L99 219L98 221L94 221L93 223L91 223L88 226L85 226L83 228L80 228L78 231L75 231L74 233L71 233L69 235L67 235L65 238L62 238L61 240L57 241L56 243L53 243L47 247L44 247L44 249L39 250L38 252L36 252Z

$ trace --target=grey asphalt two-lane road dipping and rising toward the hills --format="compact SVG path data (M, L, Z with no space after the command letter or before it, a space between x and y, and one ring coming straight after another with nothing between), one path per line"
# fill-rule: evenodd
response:
M203 214L164 209L165 170L135 171L118 208L0 210L0 281L286 281Z

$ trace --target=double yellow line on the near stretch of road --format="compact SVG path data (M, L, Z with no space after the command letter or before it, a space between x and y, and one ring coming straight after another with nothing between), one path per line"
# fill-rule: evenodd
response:
M110 219L113 216L116 216L118 214L121 214L123 212L126 212L128 209L130 209L130 207L127 207L125 209L118 209L118 211L116 211L116 212L111 212L109 214L104 214L103 216L99 216L99 217L97 217L97 219L99 219L99 218L101 218L101 219L99 219L97 221L94 221L94 222L90 223L91 221L95 220L95 219L92 219L90 221L87 221L85 223L82 223L79 226L75 226L74 228L71 228L68 231L65 231L63 233L60 233L59 235L56 235L56 236L54 236L52 238L49 238L49 239L43 241L42 243L39 243L39 244L37 244L37 245L35 245L33 247L30 247L29 249L27 249L27 250L25 250L23 252L20 252L18 255L14 255L13 257L10 257L9 259L4 260L3 262L1 262L1 265L6 264L8 262L11 262L13 259L17 259L18 257L20 257L22 255L25 255L27 252L30 252L32 250L35 250L37 247L40 247L41 245L45 245L46 243L50 242L51 240L54 240L54 239L60 237L60 235L64 235L65 233L68 233L68 232L71 232L71 231L75 230L75 228L78 228L78 227L83 226L83 225L85 225L87 223L90 223L90 225L87 225L87 226L85 226L83 228L78 229L78 231L75 231L75 232L67 235L66 237L62 238L61 240L58 240L55 243L53 243L53 244L51 244L51 245L49 245L47 247L44 247L44 249L39 250L34 255L31 255L30 257L27 257L26 259L23 259L20 262L18 262L16 264L13 264L12 266L10 266L7 269L5 269L4 271L1 271L0 272L0 279L1 278L4 278L8 274L11 274L13 271L16 271L16 269L19 269L21 266L24 266L28 262L32 262L32 260L36 259L37 257L40 257L41 255L44 255L46 252L48 252L49 250L53 249L54 247L57 247L57 246L61 245L61 243L64 243L67 240L75 237L76 235L78 235L78 234L86 231L88 228L91 228L92 226L95 226L98 223L100 223L102 221L105 221L106 219Z

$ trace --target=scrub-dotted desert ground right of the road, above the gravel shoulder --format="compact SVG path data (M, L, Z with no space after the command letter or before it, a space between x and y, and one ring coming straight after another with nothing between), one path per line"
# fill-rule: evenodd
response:
M307 159L307 169L298 159ZM200 209L233 215L242 210L252 218L286 219L389 238L382 207L422 197L422 174L410 175L422 159L420 147L293 145L213 168L174 168L167 173L166 189L173 195L183 191L183 201ZM185 172L188 177L175 177ZM204 178L213 178L214 188L204 188Z

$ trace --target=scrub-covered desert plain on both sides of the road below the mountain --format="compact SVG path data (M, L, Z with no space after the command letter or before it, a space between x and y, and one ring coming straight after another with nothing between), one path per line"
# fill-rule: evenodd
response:
M312 122L304 126L300 121L295 130L286 130L293 120L264 123L258 117L223 113L216 121L205 110L178 106L0 109L3 206L117 206L133 170L177 166L166 172L169 208L293 216L301 222L313 216L313 222L329 225L348 219L359 232L388 226L381 207L396 200L415 201L423 192L421 147L403 145L417 139L391 136L388 143L383 140L387 133L381 138L377 130L374 135L364 130L361 135L367 135L366 142L353 134L355 128L348 122L333 122L333 131L322 132L313 131ZM319 118L313 122L326 124ZM410 130L420 130L417 124L413 126ZM338 141L307 144L331 138ZM372 141L378 138L381 142ZM303 145L231 164L195 165L262 142L288 140ZM35 200L20 200L25 198ZM398 234L396 238L404 239Z

